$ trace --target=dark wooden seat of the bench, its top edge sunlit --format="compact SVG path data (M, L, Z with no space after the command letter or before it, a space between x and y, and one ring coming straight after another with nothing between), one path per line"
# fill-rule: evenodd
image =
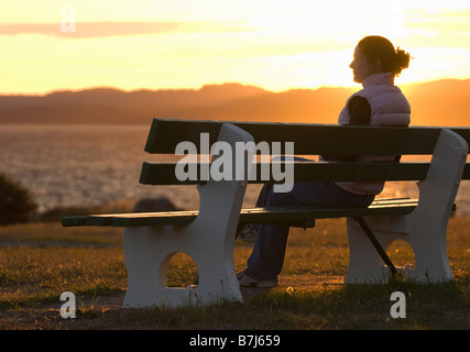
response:
M417 207L417 199L396 198L378 199L368 208L316 208L316 207L273 207L244 208L240 211L240 223L283 222L289 226L308 228L311 220L326 218L364 217L380 215L405 215ZM64 227L98 226L98 227L156 227L186 226L193 222L199 211L164 211L141 213L90 215L87 217L69 217L63 219Z

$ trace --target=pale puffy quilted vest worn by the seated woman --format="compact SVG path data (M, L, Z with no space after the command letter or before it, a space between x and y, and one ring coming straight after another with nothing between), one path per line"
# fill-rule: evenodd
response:
M393 74L372 75L362 81L363 89L353 94L347 101L338 118L339 124L349 124L348 105L352 97L368 99L371 106L370 125L407 127L409 124L411 107L402 90L393 85ZM393 162L395 155L363 155L358 162ZM358 195L379 195L384 183L337 183L350 193Z

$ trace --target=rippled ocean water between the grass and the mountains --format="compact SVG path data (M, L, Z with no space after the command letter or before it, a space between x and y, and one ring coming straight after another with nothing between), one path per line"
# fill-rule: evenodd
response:
M0 124L0 172L21 180L40 210L165 196L184 209L198 207L195 186L139 184L149 125ZM254 206L260 185L249 185ZM416 197L415 183L390 183L381 197ZM470 184L461 182L457 215L470 217Z

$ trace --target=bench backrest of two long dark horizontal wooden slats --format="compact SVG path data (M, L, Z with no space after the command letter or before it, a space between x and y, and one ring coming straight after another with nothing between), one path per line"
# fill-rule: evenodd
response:
M438 127L352 127L307 123L263 123L233 121L198 121L154 119L145 145L147 153L174 154L178 143L186 141L198 148L201 133L209 145L217 141L222 123L232 123L250 133L255 143L269 145L294 142L295 155L431 155L442 128ZM449 128L470 144L470 128ZM204 184L204 180L179 182L174 163L144 163L140 182L147 185ZM256 163L261 175L262 163ZM332 180L423 180L428 162L402 163L294 163L294 182ZM462 179L470 179L467 163ZM265 183L252 179L250 183ZM271 180L276 183L274 178Z

